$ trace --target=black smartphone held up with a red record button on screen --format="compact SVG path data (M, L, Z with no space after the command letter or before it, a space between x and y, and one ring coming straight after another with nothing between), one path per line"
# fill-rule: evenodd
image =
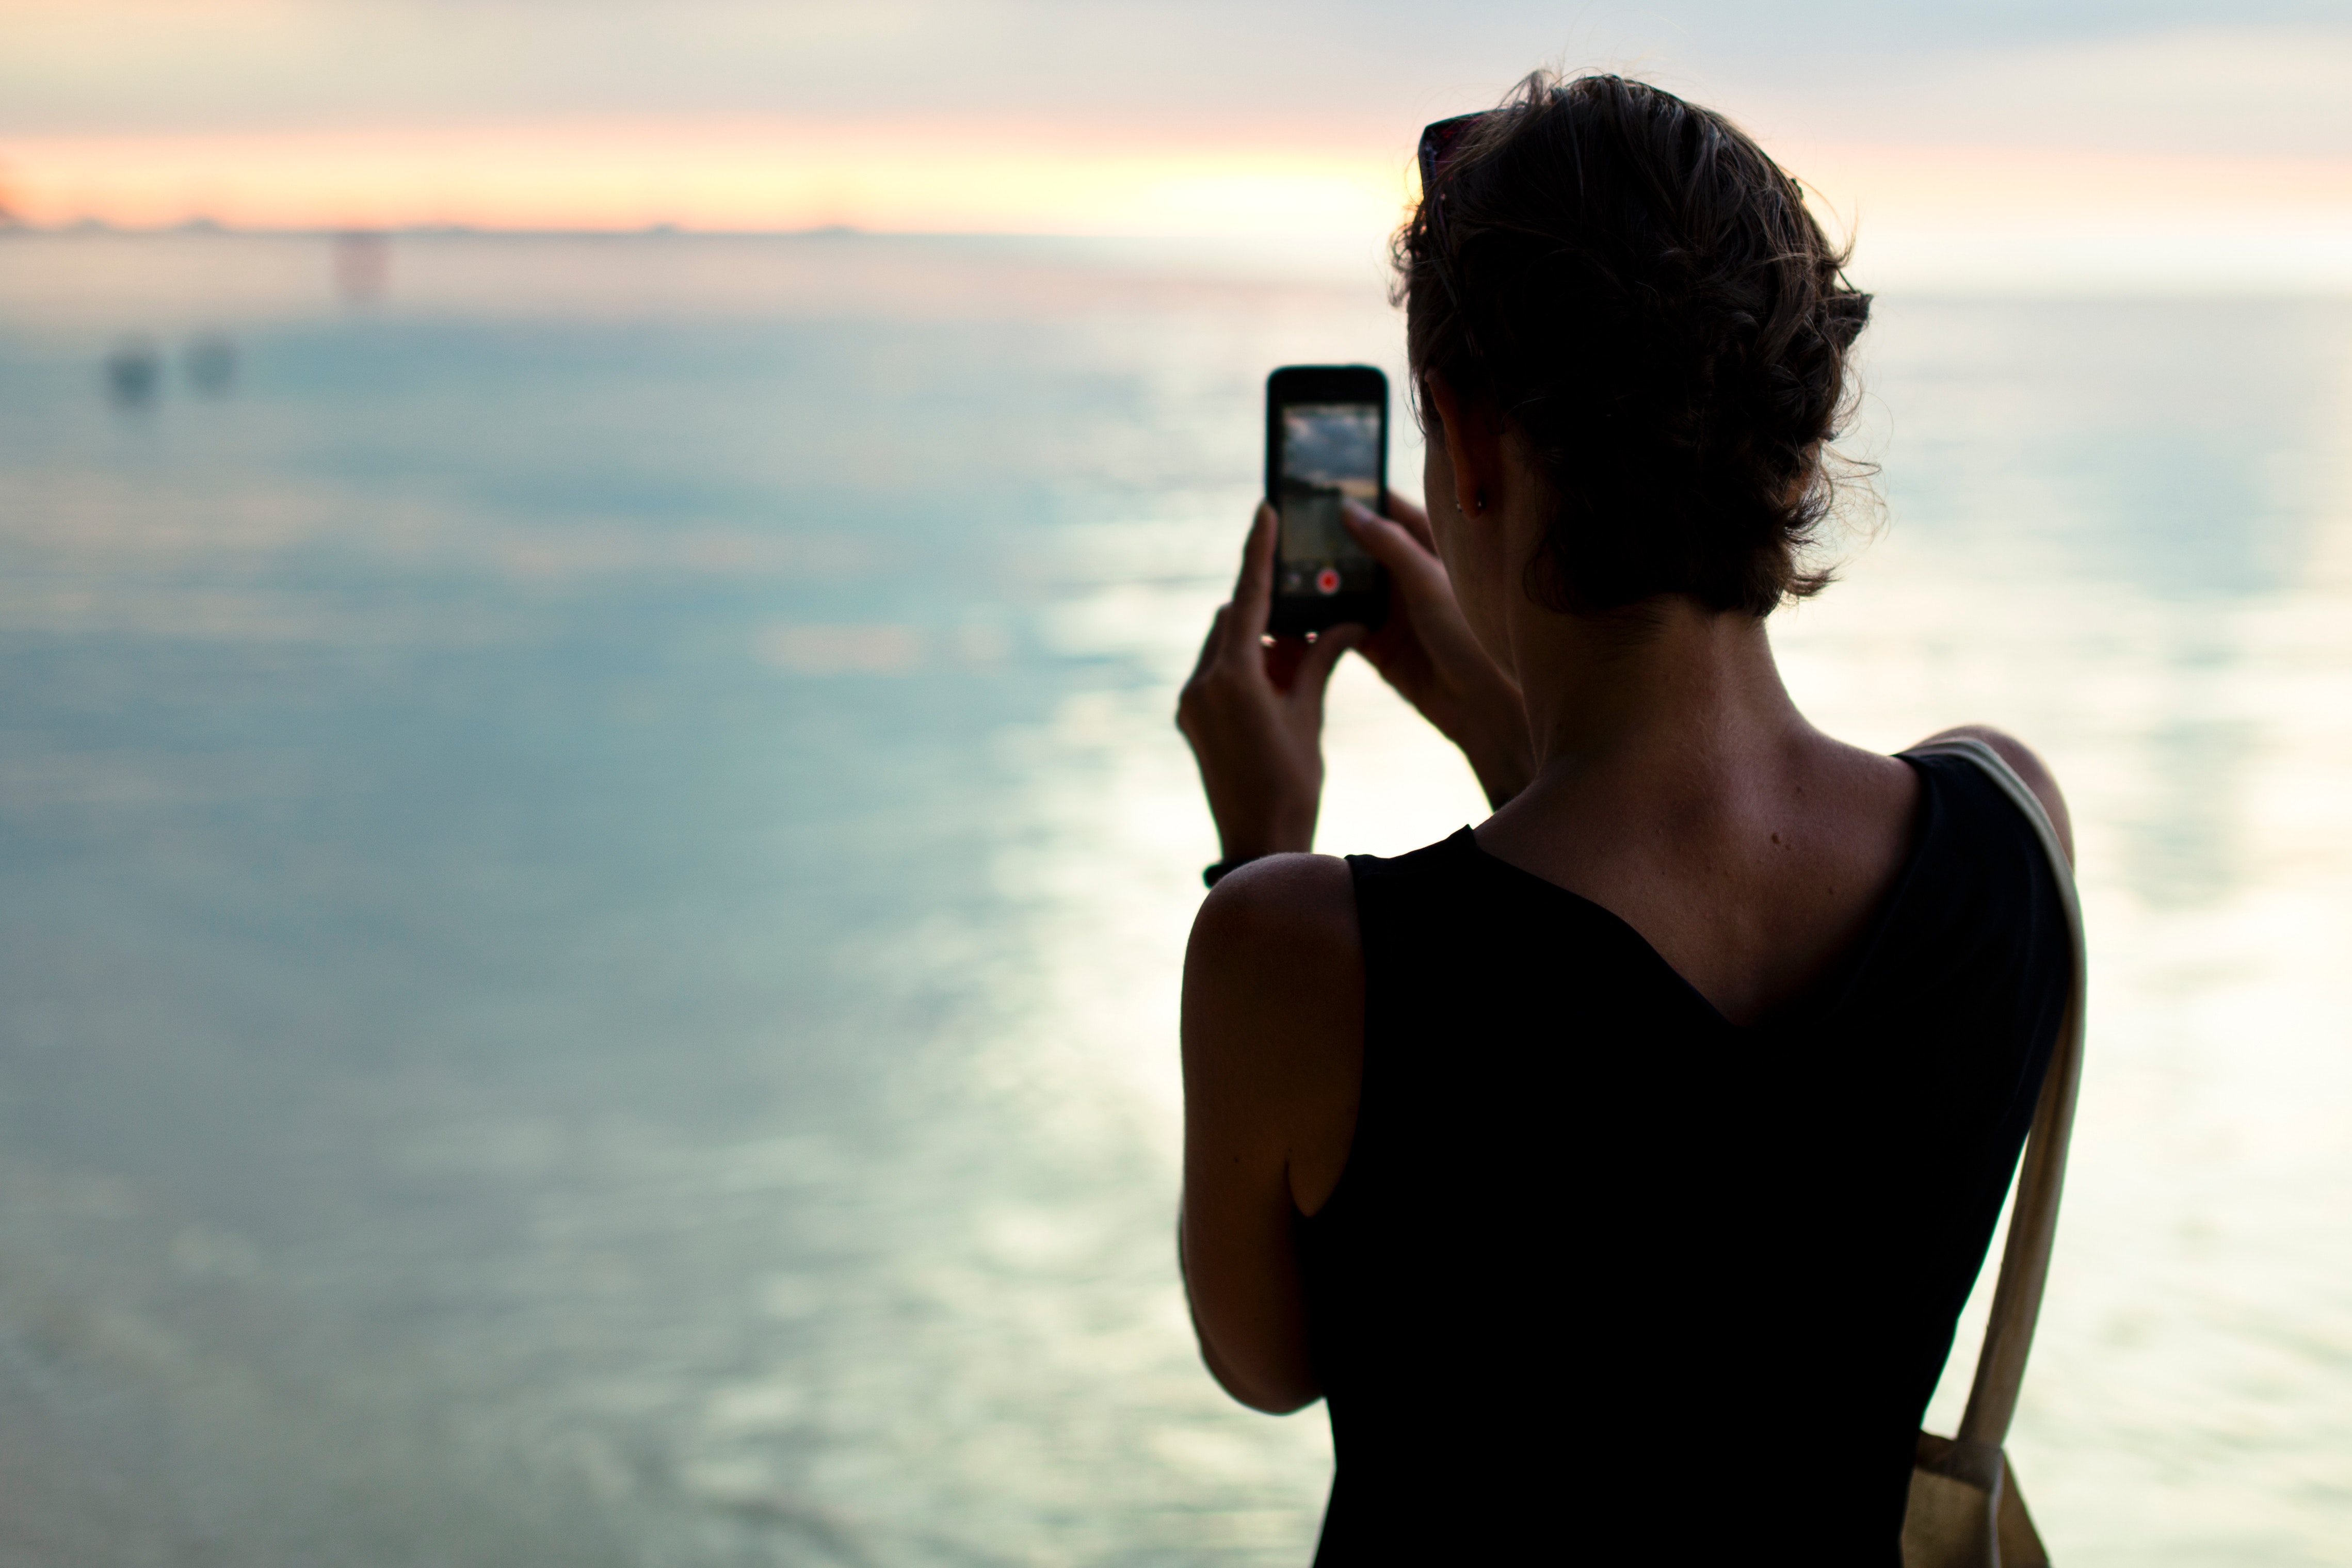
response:
M1388 498L1388 376L1371 364L1284 364L1265 378L1265 498L1282 520L1265 630L1381 625L1388 569L1338 520Z

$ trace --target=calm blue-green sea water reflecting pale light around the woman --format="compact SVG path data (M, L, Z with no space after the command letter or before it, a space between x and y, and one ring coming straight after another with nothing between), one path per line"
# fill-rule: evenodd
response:
M0 242L0 1563L1303 1563L1174 1279L1169 712L1369 263L332 277ZM2352 1563L2352 301L1896 299L1870 393L1799 701L2082 842L2027 1495ZM1477 816L1355 665L1331 766L1327 849Z

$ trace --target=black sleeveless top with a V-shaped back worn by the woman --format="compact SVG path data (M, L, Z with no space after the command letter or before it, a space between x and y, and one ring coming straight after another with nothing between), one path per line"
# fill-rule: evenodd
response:
M1755 1027L1468 827L1348 860L1364 1098L1298 1222L1317 1568L1898 1563L2070 980L2032 825L1976 764L1907 762L1893 893Z

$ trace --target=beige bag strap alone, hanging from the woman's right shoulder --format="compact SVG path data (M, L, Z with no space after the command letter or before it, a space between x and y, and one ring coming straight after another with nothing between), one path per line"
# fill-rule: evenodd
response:
M2034 1126L2025 1138L2025 1161L2018 1168L2018 1201L2009 1213L2009 1246L2002 1251L2002 1279L1992 1288L1992 1321L1985 1324L1985 1349L1976 1359L1976 1387L1969 1389L1969 1413L1959 1418L1962 1443L1999 1448L2009 1439L2009 1420L2018 1413L2018 1387L2025 1382L2025 1352L2034 1342L2042 1316L2042 1286L2049 1284L2051 1244L2058 1237L2058 1192L2065 1187L2065 1150L2074 1131L2074 1091L2082 1086L2082 1011L2084 971L2082 903L2074 898L2074 867L2058 842L2042 799L1983 741L1929 741L1907 757L1966 757L2016 802L2034 825L2058 898L2065 905L2067 940L2074 950L2074 978L2067 990L2065 1020L2042 1077L2034 1103Z

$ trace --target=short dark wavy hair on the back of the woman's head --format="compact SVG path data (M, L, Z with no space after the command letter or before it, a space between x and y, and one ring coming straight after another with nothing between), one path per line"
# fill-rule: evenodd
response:
M1738 127L1538 71L1461 134L1392 254L1416 376L1501 411L1550 487L1538 602L1766 616L1828 585L1799 552L1870 296Z

